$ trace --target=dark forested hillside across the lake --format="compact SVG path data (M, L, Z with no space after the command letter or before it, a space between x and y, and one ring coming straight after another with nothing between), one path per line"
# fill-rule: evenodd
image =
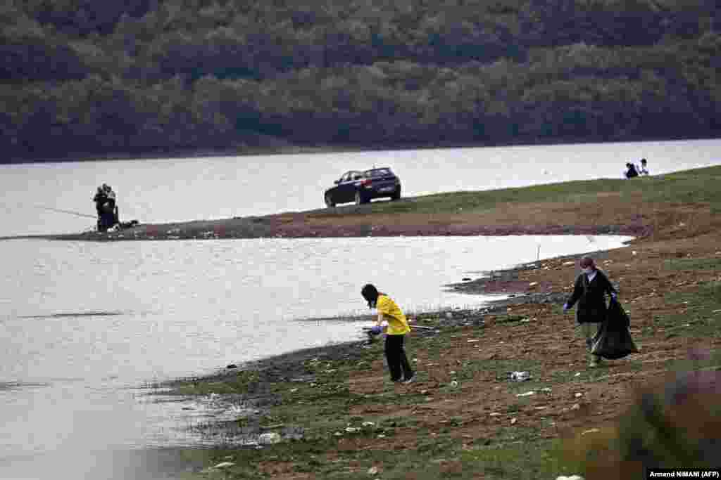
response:
M5 0L0 163L718 137L717 0Z

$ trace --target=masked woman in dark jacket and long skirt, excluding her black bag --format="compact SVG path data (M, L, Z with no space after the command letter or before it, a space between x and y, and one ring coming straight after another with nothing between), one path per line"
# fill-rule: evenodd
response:
M598 332L603 320L606 320L606 293L616 298L616 289L611 285L606 274L596 268L593 258L581 258L580 267L582 273L576 278L573 293L563 305L563 311L578 302L576 321L581 327L586 348L590 351L591 339ZM596 324L596 332L593 331L593 324ZM601 357L592 355L589 366L596 367L599 363Z

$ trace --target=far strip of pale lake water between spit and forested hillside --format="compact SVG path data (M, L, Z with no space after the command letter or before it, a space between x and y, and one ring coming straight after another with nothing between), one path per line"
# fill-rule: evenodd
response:
M118 160L0 166L0 237L79 232L102 183L118 194L120 217L174 222L324 207L342 173L390 166L404 195L483 190L591 178L621 178L647 158L652 174L721 163L721 140L397 150L315 155Z

